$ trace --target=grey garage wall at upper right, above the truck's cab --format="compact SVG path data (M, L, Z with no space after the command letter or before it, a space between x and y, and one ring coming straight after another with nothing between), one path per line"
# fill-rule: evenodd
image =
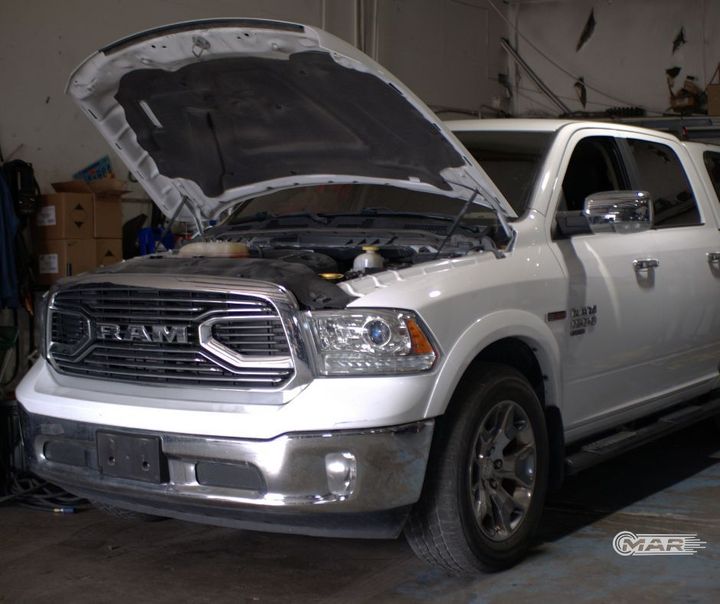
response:
M594 34L576 51L591 9ZM686 75L704 87L720 60L717 0L511 0L508 14L520 34L510 36L520 54L574 111L582 110L575 77L597 89L587 90L589 111L635 105L662 112L670 105L666 69L682 68L676 89ZM673 53L681 28L687 43ZM521 77L517 85L517 112L557 113L529 78Z

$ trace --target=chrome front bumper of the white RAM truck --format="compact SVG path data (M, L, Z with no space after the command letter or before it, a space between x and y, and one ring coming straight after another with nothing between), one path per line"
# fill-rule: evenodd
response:
M72 490L92 489L108 497L148 503L202 505L208 508L317 508L344 512L379 511L415 503L422 490L434 428L433 420L378 429L285 434L271 440L213 438L119 430L23 412L23 434L31 467L38 475ZM101 474L95 462L96 432L159 436L168 459L169 481L148 483ZM82 446L88 465L75 466L45 457L49 442ZM354 488L348 495L330 491L326 456L349 453L357 460ZM201 485L199 461L252 464L266 490L247 491Z

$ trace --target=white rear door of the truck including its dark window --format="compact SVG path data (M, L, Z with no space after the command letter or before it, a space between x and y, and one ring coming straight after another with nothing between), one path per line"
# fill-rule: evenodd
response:
M654 289L663 304L658 370L667 394L689 391L718 376L720 234L709 200L698 203L703 187L681 145L650 136L628 137L625 143L634 163L632 188L648 191L653 199Z

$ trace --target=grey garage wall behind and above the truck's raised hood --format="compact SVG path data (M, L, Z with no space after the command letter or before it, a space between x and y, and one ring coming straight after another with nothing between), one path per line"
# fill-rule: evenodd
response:
M504 24L489 16L485 0L2 1L0 147L6 159L32 162L44 191L105 154L124 177L120 160L64 95L69 73L117 38L218 16L324 25L432 104L478 110L499 94L493 79L505 66L497 44Z

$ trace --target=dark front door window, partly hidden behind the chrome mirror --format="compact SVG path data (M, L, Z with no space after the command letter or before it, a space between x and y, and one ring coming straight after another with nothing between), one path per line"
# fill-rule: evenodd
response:
M589 136L575 145L562 184L559 211L577 212L585 198L600 191L628 188L615 139Z

